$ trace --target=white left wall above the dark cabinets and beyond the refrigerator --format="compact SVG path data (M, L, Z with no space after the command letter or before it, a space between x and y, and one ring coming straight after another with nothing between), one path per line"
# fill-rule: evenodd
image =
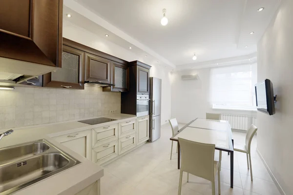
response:
M95 48L112 56L116 56L126 61L139 60L139 57L113 42L107 41L97 35L94 35L83 28L63 20L63 37L74 40L86 46ZM151 65L150 77L162 79L162 113L161 123L166 123L171 117L171 82L170 73L167 69L159 64Z

